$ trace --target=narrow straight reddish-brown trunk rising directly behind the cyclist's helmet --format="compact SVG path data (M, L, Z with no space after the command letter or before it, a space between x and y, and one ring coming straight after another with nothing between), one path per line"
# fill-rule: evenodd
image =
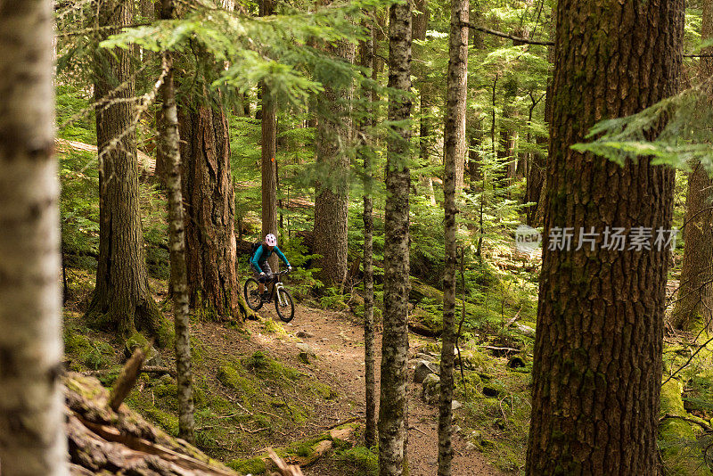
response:
M272 0L260 1L260 16L273 14ZM262 92L261 176L262 176L262 236L277 236L277 108L265 83ZM278 271L277 255L267 260L274 272Z

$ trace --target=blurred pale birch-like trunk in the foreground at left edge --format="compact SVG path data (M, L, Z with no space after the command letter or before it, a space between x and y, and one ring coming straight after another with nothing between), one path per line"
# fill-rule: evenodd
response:
M0 3L0 462L64 476L53 3Z

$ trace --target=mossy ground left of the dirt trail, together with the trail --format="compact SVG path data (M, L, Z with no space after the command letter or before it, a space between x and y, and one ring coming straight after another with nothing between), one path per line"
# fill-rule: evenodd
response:
M98 375L109 386L124 358L123 345L111 333L88 328L83 320L81 309L91 295L92 273L72 269L70 281L74 299L64 313L67 364L71 370ZM165 299L165 285L152 279L157 301ZM169 308L164 305L170 317ZM356 316L302 305L289 324L279 321L272 306L266 305L259 314L261 320L246 323L193 320L191 324L197 446L238 471L258 474L259 465L251 464L266 447L300 455L316 437L341 423L362 423L356 434L358 444L365 414L365 365L363 326ZM434 339L410 334L409 357L432 343ZM299 357L301 344L315 354L308 362ZM378 389L380 337L376 348ZM160 354L162 365L175 368L173 349L160 349ZM410 368L409 466L412 475L426 476L438 467L438 408L422 400L421 385L413 377ZM471 406L464 403L454 412L455 424L473 428L465 422ZM127 405L175 434L175 381L168 375L144 374ZM495 420L485 417L488 423ZM496 457L481 453L482 447L466 448L470 436L470 430L454 434L453 473L505 474L488 463L495 463ZM345 451L335 442L332 451L304 472L307 476L365 475L373 473L374 464L375 455L366 448Z

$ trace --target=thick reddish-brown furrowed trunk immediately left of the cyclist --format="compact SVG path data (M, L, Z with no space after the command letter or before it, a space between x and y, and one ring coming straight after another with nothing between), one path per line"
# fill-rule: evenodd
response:
M238 312L230 138L221 98L207 101L178 111L186 266L191 306L225 319Z

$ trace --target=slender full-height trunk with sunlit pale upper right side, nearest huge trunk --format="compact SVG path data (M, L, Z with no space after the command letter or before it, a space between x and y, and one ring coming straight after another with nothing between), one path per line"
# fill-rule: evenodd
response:
M465 105L468 87L469 1L451 1L450 58L448 60L446 124L443 128L446 166L443 180L446 268L443 275L443 333L440 354L438 406L438 476L451 475L453 419L453 350L455 349L455 207L457 163L466 154ZM461 178L463 179L463 178Z

